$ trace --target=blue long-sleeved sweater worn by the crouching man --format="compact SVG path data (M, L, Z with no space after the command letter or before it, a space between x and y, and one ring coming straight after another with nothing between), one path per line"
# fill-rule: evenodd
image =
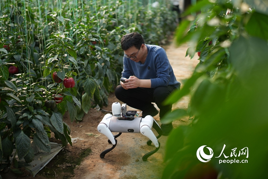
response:
M151 79L151 88L172 85L179 87L180 83L176 80L166 51L157 45L146 45L146 47L148 53L144 64L124 57L122 77L135 76L139 79Z

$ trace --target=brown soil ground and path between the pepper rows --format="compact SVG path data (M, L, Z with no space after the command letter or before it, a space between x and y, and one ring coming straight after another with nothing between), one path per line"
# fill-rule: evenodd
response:
M172 65L174 73L178 81L191 76L194 68L198 63L198 56L190 59L185 57L187 45L175 47L173 42L164 46ZM108 106L102 109L111 111L113 102L118 101L112 93L108 97ZM122 102L119 101L121 104ZM173 104L175 108L187 108L189 96L182 98L178 103ZM156 106L156 105L155 105ZM133 108L127 107L127 110ZM78 123L71 123L68 117L68 112L64 115L63 120L71 128L71 138L73 146L69 144L56 155L35 177L29 173L24 176L18 176L10 171L2 171L3 179L143 179L143 178L161 178L165 163L165 144L168 136L161 136L159 142L161 147L147 161L142 161L142 156L149 151L155 149L154 145L146 144L148 138L135 133L122 133L117 138L117 146L105 155L105 158L100 158L99 154L112 145L107 142L105 135L100 135L97 131L97 126L102 120L105 112L96 109L90 109L88 114L85 114L83 120ZM156 115L155 120L160 123L159 115ZM183 118L174 121L174 127L179 125L187 125L190 121L188 118ZM156 133L156 131L153 129ZM115 133L116 134L116 133Z

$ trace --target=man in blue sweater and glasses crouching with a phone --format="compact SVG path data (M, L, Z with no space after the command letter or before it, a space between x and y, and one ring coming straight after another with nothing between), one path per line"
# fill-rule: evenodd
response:
M163 105L169 94L180 88L173 69L169 64L166 51L157 45L147 45L139 33L129 33L121 38L124 50L124 69L120 85L116 87L115 95L120 101L130 107L140 109L142 118L147 115L155 116L160 109L161 118L172 109L172 105ZM169 135L172 123L162 124L162 135Z

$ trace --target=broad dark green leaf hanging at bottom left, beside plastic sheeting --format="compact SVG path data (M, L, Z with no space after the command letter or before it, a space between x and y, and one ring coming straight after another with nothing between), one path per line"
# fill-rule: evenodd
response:
M22 159L27 155L31 147L30 138L19 129L18 136L16 137L15 145L19 159Z

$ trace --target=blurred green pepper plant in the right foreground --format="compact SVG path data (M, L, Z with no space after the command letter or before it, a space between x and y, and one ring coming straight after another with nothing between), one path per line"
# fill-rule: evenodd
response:
M166 100L191 95L188 109L162 121L190 120L167 140L162 178L267 178L267 9L250 0L203 0L185 12L175 38L200 63Z

